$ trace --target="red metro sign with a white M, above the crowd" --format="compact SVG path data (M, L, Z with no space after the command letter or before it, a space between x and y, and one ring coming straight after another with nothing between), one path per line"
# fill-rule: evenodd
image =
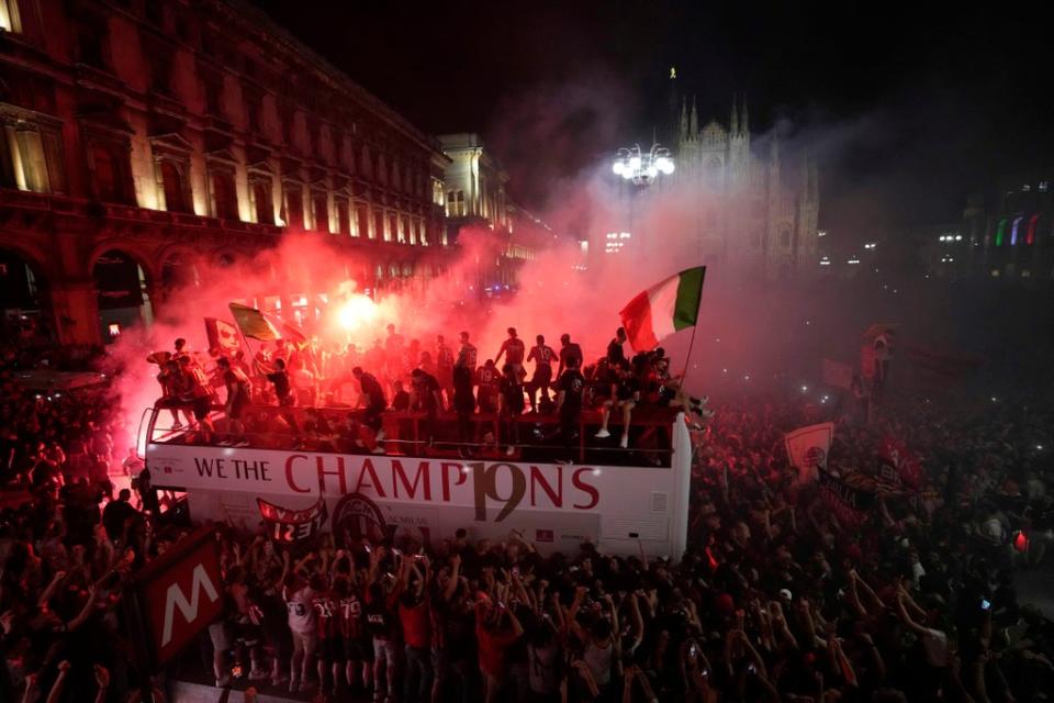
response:
M143 580L139 607L157 667L223 613L223 579L212 531L199 531L187 542L166 554L165 562L150 568ZM169 555L172 558L166 559Z

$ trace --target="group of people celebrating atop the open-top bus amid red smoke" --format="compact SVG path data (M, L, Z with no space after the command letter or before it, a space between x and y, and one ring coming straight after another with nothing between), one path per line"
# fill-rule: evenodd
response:
M192 428L184 438L204 443L260 446L292 436L298 447L380 454L444 442L456 444L462 455L497 450L502 444L513 456L537 439L522 436L524 415L559 417L559 431L547 436L563 446L570 446L582 413L590 411L599 417L592 444L608 444L604 440L612 437L610 423L620 429L623 449L629 447L636 408L681 409L692 426L700 427L708 414L705 399L681 391L681 379L671 373L663 349L627 357L625 343L619 328L606 354L585 365L582 348L569 334L561 335L559 352L540 334L528 349L509 327L493 358L479 364L468 332L460 334L456 348L437 335L429 350L417 339L405 344L395 326L388 325L384 344L378 339L365 354L355 345L326 348L312 341L278 339L261 345L249 362L236 349L194 355L184 339L177 339L172 352L154 354L150 360L160 367L158 405L169 409L171 427ZM224 410L218 433L211 419L217 404ZM255 412L276 405L277 413ZM360 412L335 412L339 408ZM405 422L386 426L384 415L392 413L416 415L416 432ZM439 423L441 416L453 422ZM483 416L496 422L475 422ZM635 437L635 445L654 450L654 433ZM658 456L648 459L658 461Z

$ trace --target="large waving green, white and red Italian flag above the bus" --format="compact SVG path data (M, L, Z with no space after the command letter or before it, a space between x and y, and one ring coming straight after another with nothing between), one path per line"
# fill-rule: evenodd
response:
M653 349L674 332L695 325L705 277L705 266L685 269L641 291L623 308L618 314L635 352Z

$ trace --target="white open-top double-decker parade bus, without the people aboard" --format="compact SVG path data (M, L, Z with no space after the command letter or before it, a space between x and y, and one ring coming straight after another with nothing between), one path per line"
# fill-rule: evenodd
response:
M417 419L395 413L385 417L385 428L393 428L389 436L401 425L414 439L385 443L385 454L300 449L294 447L302 443L274 433L256 440L245 435L249 446L200 444L190 433L161 426L169 413L158 409L145 411L139 443L153 487L184 492L192 520L253 531L266 518L279 539L329 529L338 544L361 536L435 544L459 528L470 539L494 540L515 529L542 554L574 554L591 542L602 553L643 550L680 559L687 536L692 447L683 415L653 411L635 412L632 427L649 449L580 444L573 464L557 461L558 449L541 444L543 425L556 419L537 415L519 421L528 426L520 436L537 442L518 446L509 460L497 453L459 458L457 445L425 448L416 440ZM322 412L343 416L349 411ZM474 416L476 423L495 420ZM597 420L585 413L579 436L592 438Z

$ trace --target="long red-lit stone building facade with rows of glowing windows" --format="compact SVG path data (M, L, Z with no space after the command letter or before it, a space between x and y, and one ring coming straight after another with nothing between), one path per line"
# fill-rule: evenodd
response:
M2 306L63 342L288 232L444 267L438 142L240 0L0 0L0 137Z

